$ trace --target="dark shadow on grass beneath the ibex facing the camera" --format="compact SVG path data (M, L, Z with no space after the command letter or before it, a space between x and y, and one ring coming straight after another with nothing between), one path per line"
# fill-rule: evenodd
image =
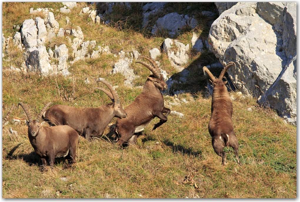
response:
M13 147L10 152L7 154L5 159L8 160L18 160L18 159L23 159L24 162L26 162L29 166L38 166L40 171L44 171L44 167L42 166L42 160L41 158L34 152L32 151L29 154L17 154L13 155L13 153L16 151L16 149L20 146L21 144L16 145ZM61 162L64 162L65 159L64 157L61 158L55 158L54 164L60 164ZM48 162L47 162L48 163Z

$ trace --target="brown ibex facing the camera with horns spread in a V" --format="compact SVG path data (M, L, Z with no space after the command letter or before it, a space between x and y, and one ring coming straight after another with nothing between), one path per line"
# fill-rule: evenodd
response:
M46 168L47 159L53 168L55 158L65 157L68 160L68 164L64 166L66 169L76 163L76 146L79 142L79 135L70 126L42 127L45 123L45 121L40 123L42 114L51 104L52 102L48 102L44 106L36 120L32 120L28 108L22 102L19 102L18 106L21 105L28 117L28 121L25 120L28 126L28 138L35 153L41 157L43 167Z

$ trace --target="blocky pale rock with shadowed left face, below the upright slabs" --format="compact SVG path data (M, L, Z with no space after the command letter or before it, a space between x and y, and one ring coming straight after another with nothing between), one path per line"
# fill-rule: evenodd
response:
M47 76L50 72L52 72L46 46L29 48L28 53L29 57L26 64L29 72L38 72L44 76Z

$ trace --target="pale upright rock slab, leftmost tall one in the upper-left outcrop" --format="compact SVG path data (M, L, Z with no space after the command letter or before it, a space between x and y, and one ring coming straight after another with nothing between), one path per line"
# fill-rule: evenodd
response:
M25 48L32 48L38 45L38 28L33 19L24 20L21 29L21 37L24 41Z

